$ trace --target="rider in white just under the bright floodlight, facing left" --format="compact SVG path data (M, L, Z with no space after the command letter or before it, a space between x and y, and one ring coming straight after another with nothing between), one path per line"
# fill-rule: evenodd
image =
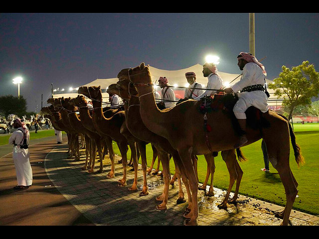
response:
M203 65L203 76L208 78L207 88L206 89L223 89L223 80L220 75L217 73L217 68L214 63L205 63ZM204 96L211 96L216 94L217 91L206 90L200 96L194 98L194 100L198 101Z

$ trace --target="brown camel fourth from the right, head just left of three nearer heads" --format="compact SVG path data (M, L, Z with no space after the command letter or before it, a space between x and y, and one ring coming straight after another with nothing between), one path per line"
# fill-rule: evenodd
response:
M122 134L121 127L125 122L125 112L121 111L113 115L111 118L105 118L103 115L102 109L102 92L99 87L80 87L78 89L78 93L82 94L92 100L93 103L93 124L95 128L102 134L105 134L111 137L114 141L116 141L119 145L119 149L122 155L122 165L123 165L123 178L118 181L118 186L125 187L127 185L126 178L127 178L127 145L130 145L132 155L134 157L134 165L135 169L137 169L137 151L136 151L136 144L133 140L129 139ZM123 129L123 128L122 128ZM128 131L128 130L127 130ZM129 131L128 131L129 132ZM126 132L126 133L128 133ZM112 141L107 143L110 155L113 154L113 146ZM109 177L114 177L114 158L110 157L111 159L111 172L109 173ZM137 172L136 172L137 173ZM137 177L136 177L137 178ZM129 188L129 190L137 190L137 181L136 178L133 182L133 186Z

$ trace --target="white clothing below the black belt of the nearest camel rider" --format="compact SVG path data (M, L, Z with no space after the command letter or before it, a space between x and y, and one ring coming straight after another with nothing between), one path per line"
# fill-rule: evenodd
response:
M268 97L263 91L252 91L238 93L238 101L234 106L233 112L237 119L246 119L245 111L254 106L261 112L268 111Z

